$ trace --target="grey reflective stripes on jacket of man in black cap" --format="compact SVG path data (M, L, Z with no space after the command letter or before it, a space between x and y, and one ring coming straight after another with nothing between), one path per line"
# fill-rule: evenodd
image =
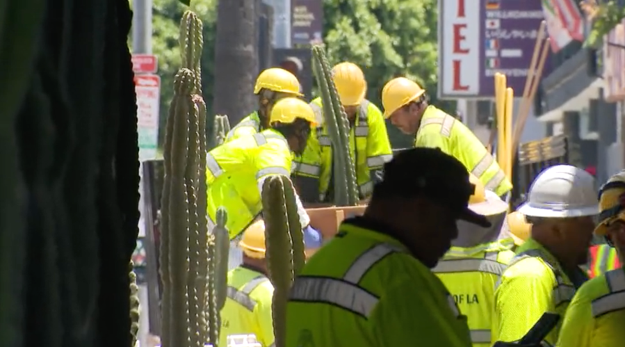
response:
M325 302L335 307L341 307L352 313L368 318L375 305L378 305L378 296L359 287L367 271L387 255L403 252L395 245L379 243L362 253L348 268L345 275L338 278L319 276L299 276L293 282L289 300L301 302ZM456 316L460 314L453 296L447 296L449 306Z

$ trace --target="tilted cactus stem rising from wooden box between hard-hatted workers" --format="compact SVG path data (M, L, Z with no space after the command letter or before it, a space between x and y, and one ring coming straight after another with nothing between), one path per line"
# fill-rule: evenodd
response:
M334 203L337 206L354 206L358 202L356 169L350 155L350 124L345 109L339 100L336 86L332 81L330 63L322 45L312 48L313 70L321 91L323 115L327 124L328 135L332 141L334 170Z

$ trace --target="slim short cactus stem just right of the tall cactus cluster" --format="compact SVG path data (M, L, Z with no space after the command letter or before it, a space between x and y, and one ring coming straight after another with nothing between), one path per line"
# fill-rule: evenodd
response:
M226 303L228 253L230 239L226 229L227 213L223 207L217 209L217 225L209 235L209 278L207 302L208 341L213 347L218 347L219 331L221 327L220 312Z

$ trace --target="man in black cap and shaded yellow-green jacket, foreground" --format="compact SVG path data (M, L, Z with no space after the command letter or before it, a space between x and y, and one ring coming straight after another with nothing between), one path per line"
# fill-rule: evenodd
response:
M430 269L456 220L489 227L467 208L473 190L440 150L396 154L364 215L344 220L295 278L285 346L471 346L466 317Z

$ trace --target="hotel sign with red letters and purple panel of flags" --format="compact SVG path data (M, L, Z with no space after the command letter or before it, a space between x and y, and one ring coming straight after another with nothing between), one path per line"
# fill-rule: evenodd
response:
M544 19L541 0L473 1L439 0L439 98L494 98L496 72L521 97Z

